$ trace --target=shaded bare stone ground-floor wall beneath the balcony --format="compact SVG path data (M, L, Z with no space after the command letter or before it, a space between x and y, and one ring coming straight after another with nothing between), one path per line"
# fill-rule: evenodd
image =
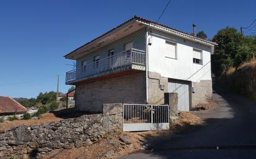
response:
M102 112L103 103L144 103L145 71L76 85L76 108Z

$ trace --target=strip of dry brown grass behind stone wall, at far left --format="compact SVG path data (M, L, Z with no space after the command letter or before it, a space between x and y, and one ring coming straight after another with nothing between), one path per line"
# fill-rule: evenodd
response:
M40 116L40 119L5 121L4 123L0 123L0 131L11 129L11 127L16 127L19 125L31 126L35 124L43 124L47 122L55 122L60 120L63 119L56 117L53 113L45 113Z

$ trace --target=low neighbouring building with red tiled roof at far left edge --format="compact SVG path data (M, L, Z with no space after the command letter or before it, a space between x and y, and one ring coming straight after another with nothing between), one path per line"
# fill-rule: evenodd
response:
M16 100L11 97L2 97L0 96L0 117L16 115L18 118L22 118L23 114L27 112L27 109L18 103Z

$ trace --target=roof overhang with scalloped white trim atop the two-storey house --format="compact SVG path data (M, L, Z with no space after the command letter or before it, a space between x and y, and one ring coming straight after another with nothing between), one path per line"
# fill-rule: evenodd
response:
M181 32L180 30L176 30L174 28L168 27L167 25L158 24L157 22L153 22L151 20L143 19L141 17L133 17L132 19L127 20L121 25L118 25L116 28L109 30L109 32L104 33L98 38L95 38L92 41L89 41L85 45L81 46L80 48L71 51L71 53L66 54L64 57L66 59L79 59L85 54L91 53L96 49L99 49L103 46L109 45L110 43L119 40L122 37L126 37L130 33L136 32L144 27L150 27L154 30L160 30L162 32L167 32L177 37L184 38L186 40L191 40L197 43L201 43L203 45L211 46L212 50L214 45L213 41L204 40L198 37L194 37L192 35L188 35L187 33ZM213 53L213 52L212 52Z

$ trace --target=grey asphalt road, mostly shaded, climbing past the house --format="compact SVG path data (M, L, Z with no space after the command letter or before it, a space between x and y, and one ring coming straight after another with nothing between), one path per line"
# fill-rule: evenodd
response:
M151 153L121 158L256 158L256 103L219 89L213 99L217 108L194 112L203 126L160 139Z

